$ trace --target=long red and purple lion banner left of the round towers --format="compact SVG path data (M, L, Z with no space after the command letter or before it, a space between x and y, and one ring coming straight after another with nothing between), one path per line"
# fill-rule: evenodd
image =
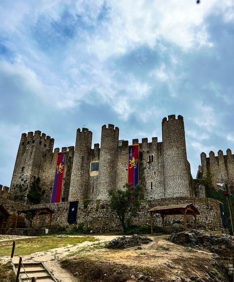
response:
M66 161L66 152L58 153L55 177L53 183L53 191L52 191L50 202L60 202L65 161Z

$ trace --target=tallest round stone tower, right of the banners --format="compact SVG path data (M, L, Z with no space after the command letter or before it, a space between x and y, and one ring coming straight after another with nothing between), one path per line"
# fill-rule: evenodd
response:
M182 116L162 120L165 198L189 197L189 176L185 127Z

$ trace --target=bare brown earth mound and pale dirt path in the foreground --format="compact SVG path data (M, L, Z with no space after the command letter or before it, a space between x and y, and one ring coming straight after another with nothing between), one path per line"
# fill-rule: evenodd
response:
M142 244L142 249L104 247L116 237L94 236L98 242L82 242L25 255L23 261L43 261L61 282L231 281L226 270L208 251L177 245L168 241L167 236L150 237L153 242ZM7 257L0 259L9 260Z

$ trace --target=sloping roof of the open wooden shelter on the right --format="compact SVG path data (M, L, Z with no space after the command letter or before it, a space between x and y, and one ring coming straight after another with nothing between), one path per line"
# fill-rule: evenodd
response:
M164 205L164 206L155 206L149 209L150 213L161 213L164 215L173 215L173 214L184 214L184 211L187 210L187 214L200 214L198 209L192 203L183 203L175 205Z

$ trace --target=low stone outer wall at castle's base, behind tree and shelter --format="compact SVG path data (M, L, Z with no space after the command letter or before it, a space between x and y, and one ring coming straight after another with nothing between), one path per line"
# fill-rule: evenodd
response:
M220 201L209 199L209 198L167 198L161 200L152 201L141 201L140 213L137 218L135 218L134 223L138 225L150 224L150 217L148 210L154 206L171 205L171 204L181 204L181 203L192 203L200 212L198 215L198 226L203 225L210 230L222 230L222 219L220 213ZM38 207L35 205L34 207ZM68 214L68 203L56 203L48 204L50 209L55 211L52 217L52 224L60 226L68 226L67 214ZM178 220L180 216L177 216ZM193 218L188 216L188 222ZM172 222L173 216L166 217L166 222ZM181 216L181 221L183 221L183 216ZM39 226L47 227L49 222L49 217L39 217ZM83 205L83 201L79 201L78 214L77 214L77 224L85 223L86 228L92 230L93 232L113 232L121 230L121 226L118 217L115 212L110 209L108 201L91 201L88 207ZM154 223L161 225L161 219L159 216L154 216Z

